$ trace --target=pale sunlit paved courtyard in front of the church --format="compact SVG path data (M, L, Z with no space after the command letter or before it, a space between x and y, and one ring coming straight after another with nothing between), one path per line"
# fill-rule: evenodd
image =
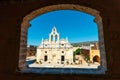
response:
M35 60L34 56L27 58L27 61L32 61L32 60ZM94 69L97 69L99 66L99 63L88 64L83 59L82 61L83 61L82 64L72 64L72 65L70 64L48 64L48 63L37 64L36 62L33 62L32 64L29 64L28 67L31 67L31 68L43 68L43 67L46 67L46 68L48 67L49 68L94 68Z

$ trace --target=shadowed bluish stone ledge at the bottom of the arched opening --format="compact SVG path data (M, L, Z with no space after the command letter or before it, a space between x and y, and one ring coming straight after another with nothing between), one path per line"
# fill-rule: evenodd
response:
M27 68L22 71L18 71L25 74L96 74L103 75L106 72L104 67L99 66L98 69L84 69L84 68Z

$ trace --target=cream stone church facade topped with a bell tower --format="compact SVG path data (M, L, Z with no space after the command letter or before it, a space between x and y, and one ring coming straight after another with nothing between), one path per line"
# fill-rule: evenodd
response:
M49 39L42 39L38 46L36 61L39 64L71 64L73 63L73 46L68 42L68 38L60 39L56 27L53 27Z

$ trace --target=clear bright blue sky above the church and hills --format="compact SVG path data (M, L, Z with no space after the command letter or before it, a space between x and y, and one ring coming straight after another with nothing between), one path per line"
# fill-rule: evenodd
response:
M57 10L37 16L30 21L28 45L39 46L42 38L48 39L55 26L60 38L70 43L98 41L98 28L94 16L75 10Z

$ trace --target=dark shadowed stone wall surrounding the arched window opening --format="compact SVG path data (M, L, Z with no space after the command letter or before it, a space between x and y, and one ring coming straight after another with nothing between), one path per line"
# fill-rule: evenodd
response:
M119 80L120 79L120 2L118 0L5 0L0 3L0 80ZM22 2L21 2L22 1ZM3 4L4 3L4 4ZM20 37L23 18L39 8L56 4L77 4L100 11L103 21L104 46L107 56L105 75L38 75L16 72L19 63L24 63L24 38ZM76 7L73 7L76 8ZM100 28L101 29L101 28ZM27 33L25 32L26 35ZM101 43L102 45L103 43ZM19 56L19 49L23 53ZM23 56L22 56L23 55ZM105 55L103 55L105 56ZM23 61L19 61L19 59ZM104 62L103 62L104 63ZM24 65L23 65L24 66ZM22 66L22 67L23 67Z

